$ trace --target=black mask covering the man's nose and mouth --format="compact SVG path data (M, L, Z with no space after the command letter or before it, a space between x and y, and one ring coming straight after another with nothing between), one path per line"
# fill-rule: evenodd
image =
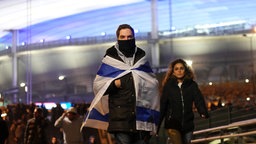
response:
M118 40L118 48L126 57L132 57L136 48L135 39Z

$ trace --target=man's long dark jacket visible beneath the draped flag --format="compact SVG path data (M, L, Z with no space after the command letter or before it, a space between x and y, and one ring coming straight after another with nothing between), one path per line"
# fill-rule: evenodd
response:
M115 47L106 51L106 55L123 61ZM138 48L134 63L145 56L145 52ZM135 132L136 131L136 95L134 81L131 73L120 78L121 88L117 88L114 81L106 91L109 94L109 132Z

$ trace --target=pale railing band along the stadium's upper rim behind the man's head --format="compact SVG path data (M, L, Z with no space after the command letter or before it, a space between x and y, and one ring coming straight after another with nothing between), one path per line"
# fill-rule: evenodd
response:
M250 33L251 28L246 28L244 24L240 25L231 25L231 26L223 26L222 28L211 28L209 29L211 32L203 32L199 33L198 29L191 29L189 31L159 31L158 37L159 39L166 38L178 38L178 37L189 37L189 36L220 36L220 35L232 35L238 33ZM168 34L165 34L168 33ZM148 40L152 41L150 32L142 32L136 34L137 40ZM114 42L116 41L116 36L113 35L105 35L105 36L92 36L92 37L81 37L81 38L71 38L71 39L60 39L53 41L44 41L38 43L31 43L29 45L18 45L18 49L20 51L31 50L31 49L42 49L42 48L54 48L58 46L64 45L86 45L86 44L99 44L106 42ZM10 44L11 45L11 44ZM0 55L3 55L6 48L4 44L0 45Z

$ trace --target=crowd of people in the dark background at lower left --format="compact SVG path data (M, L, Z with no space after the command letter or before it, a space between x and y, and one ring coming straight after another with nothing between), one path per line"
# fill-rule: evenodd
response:
M0 139L6 139L5 143L0 142L0 144L69 144L65 141L68 139L66 136L69 135L65 135L67 126L63 124L64 122L62 123L62 118L65 118L65 121L72 123L72 125L74 122L71 121L80 119L79 126L71 127L73 129L70 132L73 136L76 134L74 133L75 130L80 132L87 107L88 104L73 104L73 107L65 110L60 104L57 104L56 107L49 110L44 106L36 106L34 103L30 105L18 103L1 107L1 112L4 115L2 114L1 117ZM69 117L72 116L73 118L69 120ZM80 139L84 142L88 141L87 144L89 143L88 137L81 135Z

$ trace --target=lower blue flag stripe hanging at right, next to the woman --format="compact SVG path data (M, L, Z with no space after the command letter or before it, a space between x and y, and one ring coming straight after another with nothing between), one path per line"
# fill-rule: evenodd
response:
M155 124L159 123L160 112L148 108L136 107L137 120L143 122L153 122Z

